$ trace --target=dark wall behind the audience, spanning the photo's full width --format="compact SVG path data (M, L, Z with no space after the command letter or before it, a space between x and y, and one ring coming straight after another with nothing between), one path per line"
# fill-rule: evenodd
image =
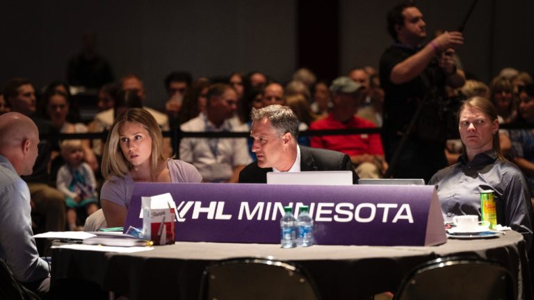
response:
M37 87L65 80L68 58L79 51L83 31L97 34L99 53L110 61L116 78L133 72L144 79L149 105L156 108L165 99L163 78L175 70L188 70L195 78L259 70L287 81L305 63L330 78L332 69L344 74L353 66L378 67L391 43L385 14L396 2L3 1L0 84L15 76L30 78ZM302 15L314 11L307 7L313 3L323 7L316 6L318 25L310 26L316 35L299 26L314 22ZM431 35L436 28L456 28L471 1L417 3ZM466 44L458 51L464 68L486 82L503 67L532 74L533 11L531 0L479 1L464 31ZM332 38L332 29L321 28L338 32Z

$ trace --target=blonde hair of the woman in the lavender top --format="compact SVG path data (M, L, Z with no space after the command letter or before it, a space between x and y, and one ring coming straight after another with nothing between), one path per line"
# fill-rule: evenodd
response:
M104 151L102 153L102 176L109 180L112 176L125 176L130 172L132 165L124 157L120 149L120 127L125 122L138 122L148 131L152 138L151 173L154 175L159 160L164 160L163 137L156 119L143 108L131 108L115 119L108 133Z

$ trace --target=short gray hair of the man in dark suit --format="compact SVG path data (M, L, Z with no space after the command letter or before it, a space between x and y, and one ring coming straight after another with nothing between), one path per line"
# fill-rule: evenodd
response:
M285 133L291 133L293 138L296 139L298 137L297 115L295 115L289 106L275 104L260 109L252 108L252 112L250 113L252 122L259 122L264 118L267 118L270 124L273 124L273 128L275 128L278 135L281 136Z

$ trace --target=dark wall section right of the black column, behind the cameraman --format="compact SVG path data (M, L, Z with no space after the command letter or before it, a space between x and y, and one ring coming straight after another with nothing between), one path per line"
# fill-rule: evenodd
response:
M378 67L391 44L385 15L397 1L341 0L341 72L354 66ZM437 29L453 31L473 0L416 1L427 24L428 37ZM488 83L503 67L534 72L534 1L480 0L464 28L458 49L464 69Z

